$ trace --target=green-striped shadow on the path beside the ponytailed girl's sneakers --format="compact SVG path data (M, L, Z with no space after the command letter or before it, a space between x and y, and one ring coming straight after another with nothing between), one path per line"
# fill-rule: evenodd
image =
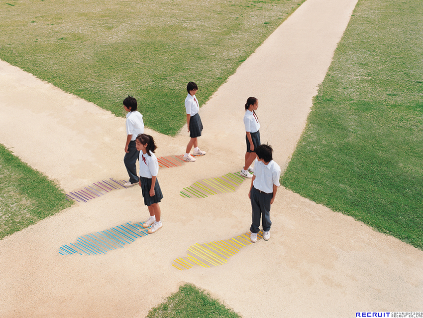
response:
M195 182L192 186L186 187L180 191L180 195L187 198L205 198L217 193L235 192L236 187L246 178L247 177L241 175L240 172L227 173L218 178L204 179Z

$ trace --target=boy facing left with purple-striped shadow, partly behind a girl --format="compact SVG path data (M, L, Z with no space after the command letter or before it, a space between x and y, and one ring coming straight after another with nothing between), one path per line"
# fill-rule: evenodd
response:
M134 97L129 96L123 100L123 109L128 112L126 114L126 144L125 144L125 163L126 171L128 171L129 180L124 186L132 186L138 183L139 178L136 172L136 160L139 157L139 151L135 147L135 139L139 134L144 133L144 122L142 115L137 111L137 101Z

